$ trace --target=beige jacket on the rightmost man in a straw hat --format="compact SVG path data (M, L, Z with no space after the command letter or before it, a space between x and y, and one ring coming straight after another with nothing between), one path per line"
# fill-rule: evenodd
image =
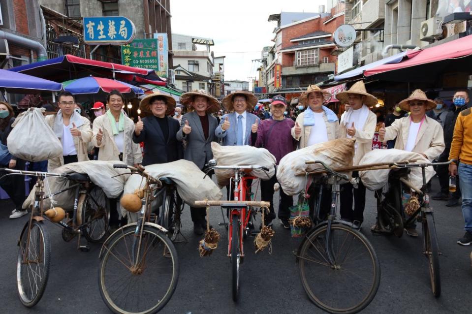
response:
M383 140L389 141L396 137L395 148L404 150L408 142L409 125L409 117L395 120L391 126L385 128L385 138ZM433 161L441 155L444 147L444 134L441 125L436 120L426 116L426 120L416 136L412 152L424 154L429 160Z

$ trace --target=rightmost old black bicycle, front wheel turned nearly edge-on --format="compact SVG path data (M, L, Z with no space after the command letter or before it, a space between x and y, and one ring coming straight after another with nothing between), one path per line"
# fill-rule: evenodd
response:
M404 226L410 225L415 220L422 224L423 234L423 254L428 258L428 268L431 280L431 289L435 297L441 295L441 276L439 265L439 244L436 235L436 226L433 215L433 208L429 204L429 194L426 182L426 167L447 165L453 160L446 162L394 162L389 165L392 169L389 173L388 183L375 192L377 198L377 225L378 230L374 232L384 234L394 234L401 237ZM408 180L411 168L421 168L422 187L420 189L413 186ZM405 213L402 205L402 193L411 194L415 192L418 196L417 209L411 214Z

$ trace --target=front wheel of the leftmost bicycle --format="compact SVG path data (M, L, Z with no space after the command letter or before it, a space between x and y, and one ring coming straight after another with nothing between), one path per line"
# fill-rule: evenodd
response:
M48 282L51 243L42 223L36 220L31 221L28 241L28 223L19 242L16 281L21 303L31 308L41 299Z

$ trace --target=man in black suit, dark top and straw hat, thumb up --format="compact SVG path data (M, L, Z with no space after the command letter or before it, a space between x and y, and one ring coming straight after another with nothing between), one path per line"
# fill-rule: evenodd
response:
M176 136L179 121L167 116L174 112L175 105L174 98L159 92L141 100L141 110L152 113L142 120L138 118L133 134L134 143L144 142L143 166L182 159L182 143Z

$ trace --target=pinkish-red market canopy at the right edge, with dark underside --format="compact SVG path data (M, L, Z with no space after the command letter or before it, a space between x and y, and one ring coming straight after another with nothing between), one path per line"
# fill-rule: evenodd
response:
M434 82L448 72L472 72L472 36L409 51L402 62L365 70L364 76L385 81Z

